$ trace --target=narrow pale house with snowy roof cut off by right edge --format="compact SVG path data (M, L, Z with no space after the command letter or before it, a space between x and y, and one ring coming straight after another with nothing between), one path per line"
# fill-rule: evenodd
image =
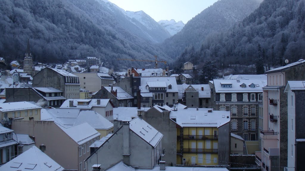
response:
M304 157L305 133L304 95L305 81L288 81L284 92L287 92L288 121L288 171L305 170Z

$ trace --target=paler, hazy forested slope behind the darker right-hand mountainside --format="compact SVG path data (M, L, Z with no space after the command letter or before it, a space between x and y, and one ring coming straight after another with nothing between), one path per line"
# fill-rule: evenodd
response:
M165 40L163 50L173 58L186 47L198 49L210 34L225 31L253 12L262 0L221 0L193 17L183 29Z

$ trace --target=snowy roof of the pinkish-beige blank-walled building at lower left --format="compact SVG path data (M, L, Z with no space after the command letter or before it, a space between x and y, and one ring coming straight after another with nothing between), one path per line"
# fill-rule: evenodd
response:
M73 125L62 126L54 122L60 129L62 129L71 139L73 139L78 145L84 144L92 138L98 137L101 134L91 127L87 122Z

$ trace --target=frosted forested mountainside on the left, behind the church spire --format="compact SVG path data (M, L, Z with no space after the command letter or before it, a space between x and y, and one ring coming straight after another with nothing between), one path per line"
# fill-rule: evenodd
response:
M1 57L23 58L29 39L34 60L40 62L95 56L116 65L118 58L153 59L153 55L169 61L153 43L162 39L131 20L124 10L101 0L2 0ZM157 34L170 36L160 29Z

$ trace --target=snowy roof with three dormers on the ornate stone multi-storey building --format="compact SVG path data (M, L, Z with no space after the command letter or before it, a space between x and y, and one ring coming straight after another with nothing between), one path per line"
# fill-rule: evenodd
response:
M220 80L214 79L214 87L217 93L221 92L263 92L263 87L267 85L267 79L248 79L248 80ZM230 84L232 85L229 87L222 87L222 84ZM245 88L242 88L242 84L246 84ZM255 87L251 88L250 85L254 84Z

